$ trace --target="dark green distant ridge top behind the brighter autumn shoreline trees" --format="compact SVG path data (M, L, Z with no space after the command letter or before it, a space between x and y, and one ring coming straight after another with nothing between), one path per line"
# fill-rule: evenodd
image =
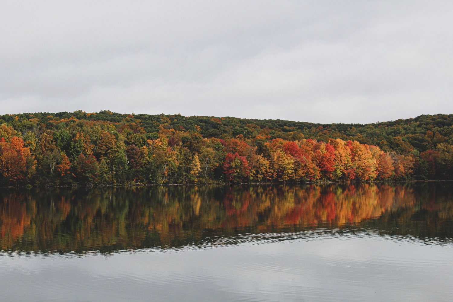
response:
M69 119L71 117L77 120L119 123L129 116L131 120L140 120L140 124L147 133L158 132L162 119L166 118L169 119L166 121L168 125L173 128L183 127L186 130L194 130L195 125L198 125L201 128L200 133L203 137L222 138L223 135L243 135L245 138L253 138L253 134L256 132L255 130L259 127L259 129L269 128L270 132L272 132L270 133L270 138L291 139L291 135L303 134L304 138L321 139L324 141L327 141L329 138L351 139L357 140L361 144L372 144L384 150L396 150L399 152L403 152L405 149L401 146L399 138L419 152L433 149L437 144L442 142L453 144L453 114L419 115L415 118L371 124L319 124L278 119L243 119L228 116L120 114L109 110L87 113L77 110L74 112L0 115L0 124L11 122L13 116L18 116L19 120L38 118L44 123L54 118ZM48 116L52 116L52 118L48 118ZM433 138L425 137L427 131L433 132Z

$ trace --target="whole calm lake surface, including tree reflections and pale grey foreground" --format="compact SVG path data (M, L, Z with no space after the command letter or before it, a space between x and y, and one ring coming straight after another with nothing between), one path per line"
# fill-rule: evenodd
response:
M0 189L1 301L451 301L451 182Z

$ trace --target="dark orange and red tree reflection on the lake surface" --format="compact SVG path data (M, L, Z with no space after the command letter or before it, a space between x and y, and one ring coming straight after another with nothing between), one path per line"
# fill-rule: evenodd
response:
M451 242L452 187L437 182L2 189L0 249L109 252L362 230Z

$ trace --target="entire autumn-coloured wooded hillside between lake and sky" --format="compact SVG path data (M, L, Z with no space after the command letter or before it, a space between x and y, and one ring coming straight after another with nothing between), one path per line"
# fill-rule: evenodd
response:
M0 116L0 184L453 179L453 115L369 125L121 115Z

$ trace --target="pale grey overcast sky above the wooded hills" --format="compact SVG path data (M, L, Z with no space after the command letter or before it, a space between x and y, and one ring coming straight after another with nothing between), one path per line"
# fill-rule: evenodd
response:
M453 113L453 1L4 1L0 114Z

